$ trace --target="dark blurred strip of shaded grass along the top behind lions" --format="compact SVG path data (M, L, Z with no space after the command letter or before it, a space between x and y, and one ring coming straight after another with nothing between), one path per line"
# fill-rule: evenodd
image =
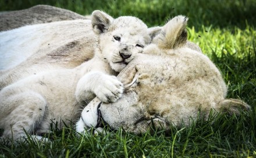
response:
M104 10L114 17L133 15L145 21L148 26L162 25L169 17L186 15L190 17L189 26L196 30L202 25L213 27L247 25L255 26L255 0L1 0L0 10L26 9L34 5L45 4L73 10L88 15L95 9Z

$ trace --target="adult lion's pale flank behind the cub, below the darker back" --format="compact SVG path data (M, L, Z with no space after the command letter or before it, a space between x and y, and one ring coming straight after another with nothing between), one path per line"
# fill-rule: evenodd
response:
M57 21L1 32L0 89L32 74L79 66L93 58L95 38L91 20Z

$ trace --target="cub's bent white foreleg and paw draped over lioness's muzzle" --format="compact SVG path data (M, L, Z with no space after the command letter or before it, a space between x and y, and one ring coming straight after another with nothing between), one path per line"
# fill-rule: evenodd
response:
M92 100L95 95L102 102L115 102L123 93L123 84L116 78L100 71L91 71L80 78L76 87L76 99L78 102Z

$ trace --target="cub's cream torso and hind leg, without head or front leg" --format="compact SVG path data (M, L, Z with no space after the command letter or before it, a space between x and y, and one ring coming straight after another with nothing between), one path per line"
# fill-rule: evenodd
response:
M40 134L48 132L51 120L54 123L58 122L59 128L62 127L62 120L66 124L69 124L69 121L76 121L85 103L92 99L84 96L85 103L76 99L77 82L84 74L97 69L97 67L98 70L102 70L102 67L110 70L107 69L107 65L100 64L92 59L74 69L52 70L35 74L3 88L0 92L0 127L5 130L3 136L10 137L13 132L14 138L19 137L18 134L22 133L23 129L17 124L22 125L29 133L35 130L36 134ZM111 71L104 73L112 74ZM86 82L84 84L94 83ZM18 118L22 119L17 121ZM29 121L30 123L27 123ZM13 126L13 131L10 131L10 124Z

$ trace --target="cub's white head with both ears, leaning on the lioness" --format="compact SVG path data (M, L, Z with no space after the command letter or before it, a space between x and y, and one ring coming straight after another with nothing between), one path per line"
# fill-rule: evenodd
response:
M161 27L147 28L137 17L113 19L99 10L93 12L91 23L94 33L99 35L95 55L106 60L117 72L137 53L143 52L144 46L150 44L151 39L161 31Z

